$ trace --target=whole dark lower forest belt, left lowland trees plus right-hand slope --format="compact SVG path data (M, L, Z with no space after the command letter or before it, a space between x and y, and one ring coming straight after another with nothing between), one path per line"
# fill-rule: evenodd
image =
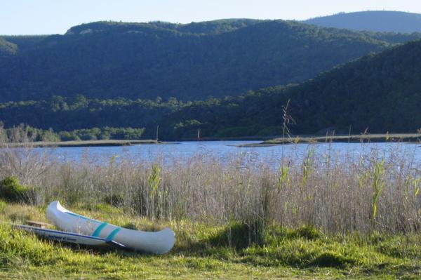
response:
M366 55L298 86L277 86L226 98L181 102L89 99L83 95L4 102L6 126L26 123L53 131L91 127L145 128L163 140L279 135L283 107L295 119L292 133L415 133L421 128L421 41Z

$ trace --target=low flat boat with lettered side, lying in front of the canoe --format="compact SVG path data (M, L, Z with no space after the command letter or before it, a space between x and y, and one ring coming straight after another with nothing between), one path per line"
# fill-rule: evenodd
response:
M124 248L122 244L118 244L115 241L100 237L75 234L72 232L60 232L60 230L43 229L41 227L32 227L30 225L12 225L12 227L23 229L27 232L34 232L34 234L38 236L54 241L82 244L86 246L116 246L119 248Z

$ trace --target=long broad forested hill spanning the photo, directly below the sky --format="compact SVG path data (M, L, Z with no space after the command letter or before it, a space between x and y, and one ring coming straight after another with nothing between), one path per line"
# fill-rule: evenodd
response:
M282 20L93 22L65 35L0 41L0 101L200 100L300 83L420 34L350 32Z

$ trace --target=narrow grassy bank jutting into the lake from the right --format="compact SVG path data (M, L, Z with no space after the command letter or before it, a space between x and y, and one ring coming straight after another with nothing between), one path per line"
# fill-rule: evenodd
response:
M319 142L421 142L420 133L386 133L361 135L326 135L326 136L292 136L274 138L257 144L239 145L240 147L267 147L272 145L319 143Z

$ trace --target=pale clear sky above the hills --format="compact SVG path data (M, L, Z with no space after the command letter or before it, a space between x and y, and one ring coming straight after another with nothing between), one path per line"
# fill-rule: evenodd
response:
M64 34L81 23L306 20L353 11L421 13L420 0L0 0L0 34Z

